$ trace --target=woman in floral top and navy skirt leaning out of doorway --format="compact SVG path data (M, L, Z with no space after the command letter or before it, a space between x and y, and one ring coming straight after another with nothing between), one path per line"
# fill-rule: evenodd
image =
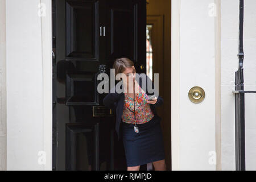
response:
M162 97L149 100L147 90L144 91L141 82L138 83L135 79L136 70L130 59L126 57L116 59L113 68L115 76L118 73L126 76L122 79L124 93L116 93L115 88L112 88L104 98L104 105L116 111L115 130L118 138L119 126L122 130L127 170L139 171L142 164L152 162L155 171L165 171L161 118L155 110L155 106L163 104ZM129 75L133 78L131 81ZM150 79L147 76L146 78ZM152 81L151 83L154 89L154 83Z

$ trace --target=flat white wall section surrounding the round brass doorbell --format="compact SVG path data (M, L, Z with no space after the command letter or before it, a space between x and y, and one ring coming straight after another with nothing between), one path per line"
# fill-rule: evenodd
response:
M172 113L172 151L176 156L174 169L179 170L215 170L216 163L209 163L216 153L216 117L215 117L215 16L212 14L214 1L181 0L179 40L173 46L179 46L179 54L172 58L172 75L179 78L172 80L172 92L179 86L179 99L172 101L172 108L179 115ZM172 5L175 5L174 3ZM173 7L173 10L175 7ZM174 17L175 18L175 17ZM178 23L172 24L176 31ZM174 71L179 69L179 71ZM174 71L174 72L173 72ZM174 81L174 82L173 82ZM192 103L188 98L189 89L201 86L205 90L205 100L200 104ZM175 97L172 94L172 99ZM173 115L174 114L174 115ZM213 152L213 153L211 153ZM210 154L210 155L209 155Z

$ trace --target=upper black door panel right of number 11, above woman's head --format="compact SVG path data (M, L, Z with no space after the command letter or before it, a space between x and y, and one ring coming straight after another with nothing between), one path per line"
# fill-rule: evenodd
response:
M135 59L134 8L132 1L106 1L106 59Z

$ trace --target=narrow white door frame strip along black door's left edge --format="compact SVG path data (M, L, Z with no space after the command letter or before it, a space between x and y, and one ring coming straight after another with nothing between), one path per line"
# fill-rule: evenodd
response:
M44 170L52 170L52 1L40 0L46 5L46 16L41 16L42 24L42 64L43 64L43 123Z

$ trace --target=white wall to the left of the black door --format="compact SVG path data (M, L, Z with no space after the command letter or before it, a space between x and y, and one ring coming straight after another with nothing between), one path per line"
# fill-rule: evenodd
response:
M51 169L51 1L6 1L6 44L7 170Z

